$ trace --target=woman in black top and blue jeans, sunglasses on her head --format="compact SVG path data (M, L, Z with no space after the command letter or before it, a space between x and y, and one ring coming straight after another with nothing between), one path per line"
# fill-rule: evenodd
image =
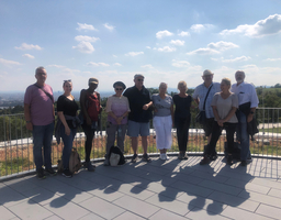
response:
M71 80L65 80L63 86L65 94L57 99L57 116L61 121L60 125L60 136L64 142L63 150L63 164L65 177L72 177L69 172L69 157L72 150L72 143L77 131L76 116L78 110L78 105L71 95L72 82Z

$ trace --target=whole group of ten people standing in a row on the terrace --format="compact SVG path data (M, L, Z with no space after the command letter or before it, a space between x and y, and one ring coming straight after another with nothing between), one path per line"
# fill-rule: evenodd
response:
M244 81L245 73L236 72L237 84L231 86L228 78L223 78L222 82L213 82L213 73L204 70L203 84L199 85L193 96L187 94L187 82L181 80L178 84L179 94L170 97L167 95L168 85L159 85L159 94L150 95L144 86L143 75L134 76L134 86L126 89L122 81L113 84L115 94L108 98L105 112L106 122L106 154L104 165L110 165L110 148L114 145L117 136L117 146L124 152L124 139L127 134L132 140L133 157L132 163L138 158L138 136L142 138L143 160L150 162L147 154L148 136L150 134L150 123L156 131L156 146L160 151L160 160L169 160L167 150L171 147L171 129L176 127L179 146L179 160L187 160L187 144L189 140L189 127L191 122L190 108L194 108L192 101L199 106L200 111L205 112L203 129L207 136L207 146L203 160L200 164L207 164L216 158L216 142L226 130L228 158L227 164L233 164L232 150L234 147L234 133L241 145L241 165L247 165L250 158L249 135L247 122L252 120L252 114L258 106L258 98L255 87ZM52 140L54 132L54 97L52 88L45 84L47 73L44 67L35 70L36 82L27 87L24 96L24 116L26 128L33 132L33 155L38 178L45 178L45 172L56 175L52 168ZM80 92L81 110L78 114L78 105L71 95L72 82L65 80L63 84L64 95L57 100L58 122L56 127L56 138L64 142L63 150L63 175L71 177L69 172L69 156L77 128L81 124L86 134L86 162L85 167L92 172L94 165L90 162L92 141L94 131L98 129L99 114L102 110L100 95L95 91L99 85L97 78L89 79L89 88ZM126 90L125 90L126 89ZM124 91L125 90L125 91ZM248 113L240 109L241 106L249 108ZM249 105L248 105L249 103ZM176 107L176 109L173 109ZM117 134L117 135L116 135ZM42 155L42 146L44 157ZM45 166L45 169L43 168Z

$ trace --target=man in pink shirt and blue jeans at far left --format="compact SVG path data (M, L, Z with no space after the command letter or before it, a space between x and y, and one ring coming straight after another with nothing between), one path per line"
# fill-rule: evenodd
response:
M35 78L36 82L29 86L24 95L24 117L26 129L33 134L33 157L37 177L44 179L45 172L56 175L50 158L55 121L54 96L52 87L45 84L47 72L43 66L36 68Z

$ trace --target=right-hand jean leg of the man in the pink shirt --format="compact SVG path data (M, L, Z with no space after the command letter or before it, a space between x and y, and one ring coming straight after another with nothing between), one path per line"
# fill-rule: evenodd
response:
M54 123L44 127L44 165L45 168L52 168L52 142L53 142L53 133L54 133Z

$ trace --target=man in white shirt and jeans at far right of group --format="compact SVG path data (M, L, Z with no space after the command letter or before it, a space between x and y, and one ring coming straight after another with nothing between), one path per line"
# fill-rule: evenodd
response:
M247 166L247 160L251 158L249 150L249 134L247 131L247 122L252 120L259 100L255 87L251 84L244 81L245 73L237 70L235 73L237 84L232 86L232 92L238 97L239 108L236 112L238 119L237 139L240 141L241 152L241 166ZM246 112L245 108L246 107Z

